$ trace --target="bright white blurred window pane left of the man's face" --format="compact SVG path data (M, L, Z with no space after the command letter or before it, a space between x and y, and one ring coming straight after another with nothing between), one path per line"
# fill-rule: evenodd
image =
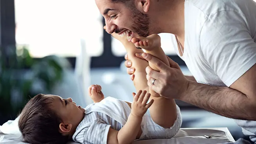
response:
M77 56L81 41L90 56L103 53L102 16L94 0L15 0L15 21L17 46L26 45L34 58Z

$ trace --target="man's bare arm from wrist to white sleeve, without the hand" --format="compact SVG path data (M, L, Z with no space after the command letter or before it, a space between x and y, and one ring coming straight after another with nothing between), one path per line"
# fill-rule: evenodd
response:
M230 88L190 81L180 100L225 117L256 121L256 65Z

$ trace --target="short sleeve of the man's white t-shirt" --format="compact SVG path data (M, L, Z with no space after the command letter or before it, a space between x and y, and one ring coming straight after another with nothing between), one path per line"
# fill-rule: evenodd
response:
M231 86L256 63L255 32L243 14L220 11L207 17L200 32L202 54L215 74Z

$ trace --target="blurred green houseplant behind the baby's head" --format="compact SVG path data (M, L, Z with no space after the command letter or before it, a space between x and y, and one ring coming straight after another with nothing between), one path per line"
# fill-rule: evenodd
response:
M62 80L63 71L70 68L69 62L58 56L33 59L25 47L11 50L8 59L0 55L2 121L15 117L36 94L49 94L52 87Z

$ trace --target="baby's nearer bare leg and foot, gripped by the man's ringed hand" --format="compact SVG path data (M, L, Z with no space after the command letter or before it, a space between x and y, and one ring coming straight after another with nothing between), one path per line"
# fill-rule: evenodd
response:
M142 49L145 49L147 53L152 54L153 56L159 58L161 61L166 63L166 65L169 65L168 59L166 58L164 51L160 47L161 44L159 35L152 34L146 38L133 38L132 42L135 44L136 47L141 47ZM159 71L157 67L155 67L151 63L149 63L149 65L154 70ZM169 128L173 126L177 118L177 110L174 99L160 97L159 94L151 89L149 90L149 92L151 94L150 99L154 99L154 103L150 107L150 115L153 121L164 128Z

